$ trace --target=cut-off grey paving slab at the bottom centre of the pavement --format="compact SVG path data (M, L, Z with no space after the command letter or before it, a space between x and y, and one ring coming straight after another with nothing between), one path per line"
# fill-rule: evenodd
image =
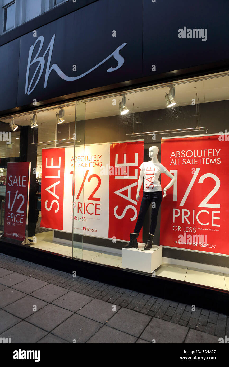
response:
M130 344L135 343L137 340L136 337L133 337L132 335L123 333L122 331L112 329L109 326L104 325L93 335L92 338L87 341L87 343L90 344Z

